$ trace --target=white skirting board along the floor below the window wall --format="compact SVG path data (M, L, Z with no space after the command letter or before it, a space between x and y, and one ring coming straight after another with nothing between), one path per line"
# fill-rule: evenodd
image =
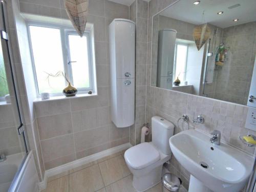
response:
M92 161L95 161L97 159L121 152L123 150L126 150L127 148L132 147L130 143L125 143L113 148L109 148L108 150L69 162L67 164L60 165L58 167L51 168L49 170L46 170L44 180L40 183L38 183L39 189L43 190L47 187L47 180L49 177L60 174L62 172L66 172L67 170L70 170L72 168L76 168L78 166L84 165L86 163L90 163Z

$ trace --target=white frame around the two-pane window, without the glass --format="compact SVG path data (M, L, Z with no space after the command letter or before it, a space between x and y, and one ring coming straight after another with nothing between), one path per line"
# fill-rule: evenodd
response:
M30 53L31 53L31 61L32 61L32 68L33 68L33 73L34 73L34 80L35 80L35 86L36 86L36 91L37 91L37 98L40 98L39 94L39 88L38 88L38 82L37 82L37 77L36 77L36 70L35 70L35 62L34 62L34 55L33 55L33 49L32 49L32 42L31 42L31 35L30 35L30 28L29 26L37 26L37 27L45 27L45 28L53 28L53 29L59 29L60 30L60 39L61 39L61 49L62 49L62 56L63 56L63 68L65 70L65 73L68 75L71 83L73 83L73 78L72 78L72 68L71 65L68 64L70 60L70 51L69 51L69 42L68 42L68 35L69 34L76 34L76 31L74 28L70 26L65 26L65 25L57 25L57 24L47 24L47 23L42 23L42 22L32 22L32 21L27 21L27 30L28 30L28 39L29 39L29 48L30 48ZM88 91L92 91L92 93L96 93L96 73L95 72L95 62L93 59L93 50L94 50L94 45L93 45L93 28L92 29L86 29L84 31L84 36L89 37L88 38L88 58L89 58L89 82L90 82L90 88L77 88L78 94L87 94ZM66 64L65 64L66 63ZM68 83L65 81L66 86ZM64 88L63 88L64 89ZM62 96L62 93L51 93L51 97L54 96Z

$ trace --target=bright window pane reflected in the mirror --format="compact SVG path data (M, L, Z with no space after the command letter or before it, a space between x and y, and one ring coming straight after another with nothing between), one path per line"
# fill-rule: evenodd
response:
M185 69L187 60L187 46L177 45L177 58L176 58L176 77L179 76L181 81L185 80Z

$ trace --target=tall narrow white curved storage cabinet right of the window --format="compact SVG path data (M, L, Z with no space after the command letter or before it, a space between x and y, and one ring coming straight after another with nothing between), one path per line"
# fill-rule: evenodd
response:
M111 118L117 127L135 121L135 23L114 19L109 25Z

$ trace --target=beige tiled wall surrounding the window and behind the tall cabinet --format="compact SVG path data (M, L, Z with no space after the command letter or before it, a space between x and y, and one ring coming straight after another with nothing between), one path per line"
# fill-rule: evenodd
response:
M68 18L62 0L21 0L19 5L23 13ZM114 18L129 18L129 7L89 1L87 21L94 24L98 96L34 103L46 169L129 142L129 127L117 129L110 120L108 26Z

